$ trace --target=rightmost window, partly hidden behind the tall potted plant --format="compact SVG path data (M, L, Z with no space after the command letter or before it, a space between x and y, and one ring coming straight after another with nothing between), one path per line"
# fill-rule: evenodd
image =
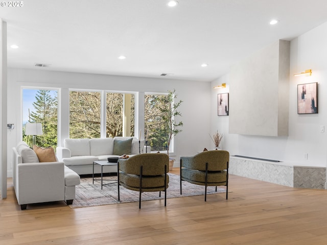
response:
M162 124L162 114L158 109L158 99L165 99L165 97L167 97L167 95L145 95L144 125L151 151L167 151L169 129L168 125ZM168 100L167 106L169 106Z

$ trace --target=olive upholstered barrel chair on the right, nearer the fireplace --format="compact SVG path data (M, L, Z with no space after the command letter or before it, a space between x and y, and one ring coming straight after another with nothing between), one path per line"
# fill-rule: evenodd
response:
M205 151L192 157L180 158L180 194L182 181L196 185L204 185L204 201L206 201L207 186L226 186L228 199L228 162L227 151Z

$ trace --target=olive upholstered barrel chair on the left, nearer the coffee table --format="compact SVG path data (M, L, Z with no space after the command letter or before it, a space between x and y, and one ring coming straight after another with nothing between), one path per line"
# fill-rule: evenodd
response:
M118 160L118 201L120 201L120 186L139 191L141 208L141 194L144 191L165 191L165 206L169 183L169 157L162 153L135 155L127 159Z

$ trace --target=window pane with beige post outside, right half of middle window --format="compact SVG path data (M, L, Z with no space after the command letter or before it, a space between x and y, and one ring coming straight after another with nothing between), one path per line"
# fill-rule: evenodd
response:
M134 94L106 93L106 137L134 135Z

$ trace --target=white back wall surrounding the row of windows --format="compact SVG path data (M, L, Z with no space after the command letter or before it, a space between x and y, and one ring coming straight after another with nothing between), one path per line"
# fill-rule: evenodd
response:
M61 141L68 136L66 122L69 118L68 89L101 89L131 92L167 92L176 89L177 99L182 100L180 112L183 121L182 132L176 136L176 159L191 156L209 144L210 91L211 84L172 79L151 79L73 72L44 71L39 69L8 69L8 123L15 129L8 132L8 176L12 172L12 147L21 140L21 87L60 88L61 93ZM144 134L144 129L142 129Z

